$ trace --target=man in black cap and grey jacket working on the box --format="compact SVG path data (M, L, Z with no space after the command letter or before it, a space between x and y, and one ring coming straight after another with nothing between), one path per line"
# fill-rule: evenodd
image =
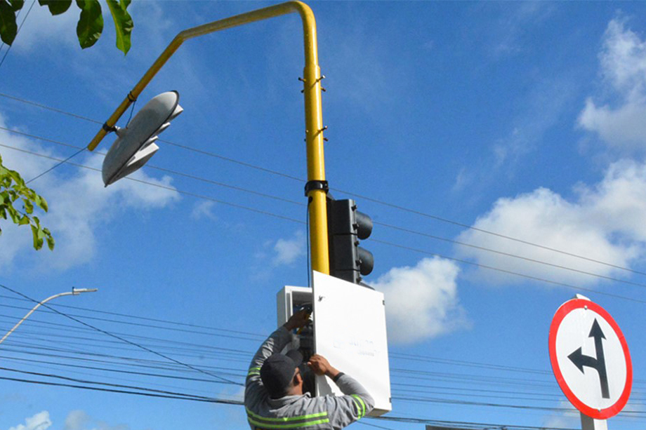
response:
M374 400L359 382L317 354L308 365L315 374L332 379L345 396L303 394L303 377L298 369L301 363L280 351L291 341L291 330L306 323L306 311L296 312L253 356L244 390L251 430L338 430L364 417L374 407Z

